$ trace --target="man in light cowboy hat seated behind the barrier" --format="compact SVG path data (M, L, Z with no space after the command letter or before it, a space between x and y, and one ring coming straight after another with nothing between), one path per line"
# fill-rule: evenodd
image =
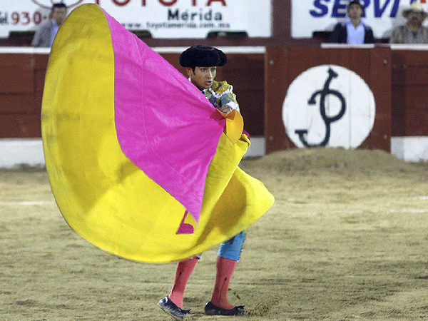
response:
M418 1L414 1L402 11L407 24L397 26L392 30L391 44L428 44L428 28L422 26L427 13Z

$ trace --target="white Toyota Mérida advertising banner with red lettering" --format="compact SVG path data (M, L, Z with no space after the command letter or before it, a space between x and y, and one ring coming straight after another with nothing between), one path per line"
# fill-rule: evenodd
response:
M0 37L35 30L49 19L53 2L0 0ZM98 4L128 30L148 30L153 38L205 38L210 31L246 31L270 37L270 0L62 0L68 12Z

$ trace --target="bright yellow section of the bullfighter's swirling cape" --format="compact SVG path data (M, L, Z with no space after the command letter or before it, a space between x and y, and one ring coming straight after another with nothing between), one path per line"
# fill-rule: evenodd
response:
M249 146L223 134L208 170L195 233L177 235L185 208L122 153L114 123L114 56L106 17L79 6L56 36L46 73L41 129L51 188L83 238L131 260L183 260L228 240L273 203L238 168ZM185 151L183 151L185 152Z

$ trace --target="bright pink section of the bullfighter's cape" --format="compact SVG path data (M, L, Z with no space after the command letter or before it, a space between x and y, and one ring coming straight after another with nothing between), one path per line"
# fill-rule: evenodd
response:
M168 61L103 12L113 43L121 149L198 222L225 119Z

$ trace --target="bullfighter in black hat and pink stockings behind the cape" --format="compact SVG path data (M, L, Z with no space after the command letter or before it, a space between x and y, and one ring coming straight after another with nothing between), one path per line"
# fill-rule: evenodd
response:
M233 87L226 81L215 81L217 67L227 61L223 51L205 45L195 45L180 54L178 62L185 68L189 81L193 83L215 108L223 113L233 109L239 111ZM225 214L227 215L227 214ZM205 315L242 315L243 305L231 305L228 302L230 278L238 263L243 248L245 233L240 232L230 240L223 242L215 261L215 284L210 302L205 305ZM170 294L158 302L158 306L175 320L183 320L190 310L183 310L183 295L193 268L200 255L178 263Z

